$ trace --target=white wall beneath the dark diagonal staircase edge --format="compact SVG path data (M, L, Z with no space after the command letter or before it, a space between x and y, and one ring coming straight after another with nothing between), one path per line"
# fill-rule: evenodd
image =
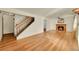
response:
M18 37L17 39L21 39L24 37L28 37L31 35L35 35L38 33L43 32L43 19L41 17L36 16L35 21L28 27L26 28Z

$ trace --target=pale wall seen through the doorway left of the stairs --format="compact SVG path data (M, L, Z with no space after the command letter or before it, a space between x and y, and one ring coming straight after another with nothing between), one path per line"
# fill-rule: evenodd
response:
M4 14L3 15L3 32L4 34L13 33L13 26L14 26L13 16Z

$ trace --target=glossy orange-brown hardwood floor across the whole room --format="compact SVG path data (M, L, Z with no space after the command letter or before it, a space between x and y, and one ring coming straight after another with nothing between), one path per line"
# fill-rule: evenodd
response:
M21 40L7 36L0 42L0 51L76 51L73 32L48 31Z

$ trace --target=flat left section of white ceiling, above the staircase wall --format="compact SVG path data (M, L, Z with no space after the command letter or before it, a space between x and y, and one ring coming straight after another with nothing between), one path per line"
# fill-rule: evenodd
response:
M50 11L56 10L57 8L16 8L16 9L39 16L46 16Z

